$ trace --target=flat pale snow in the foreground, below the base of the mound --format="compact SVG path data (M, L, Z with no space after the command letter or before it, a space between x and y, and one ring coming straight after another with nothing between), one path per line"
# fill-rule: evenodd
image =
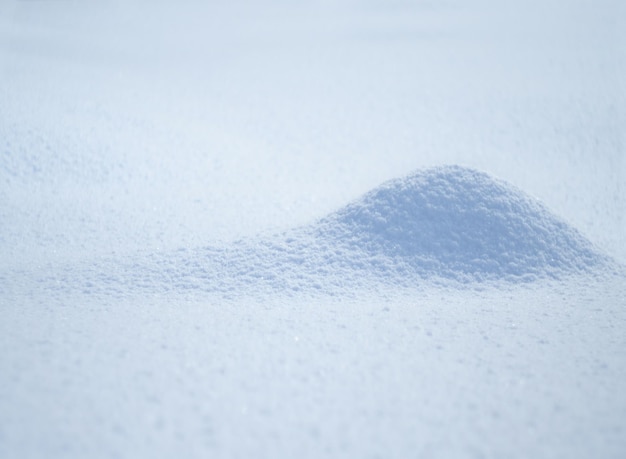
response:
M623 455L623 283L3 306L2 457Z

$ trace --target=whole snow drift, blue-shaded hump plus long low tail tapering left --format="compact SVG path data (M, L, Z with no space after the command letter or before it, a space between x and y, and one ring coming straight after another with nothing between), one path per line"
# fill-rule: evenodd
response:
M538 201L459 166L391 180L311 225L223 246L73 267L43 280L64 291L345 293L354 288L528 282L609 260ZM61 271L62 272L62 271Z

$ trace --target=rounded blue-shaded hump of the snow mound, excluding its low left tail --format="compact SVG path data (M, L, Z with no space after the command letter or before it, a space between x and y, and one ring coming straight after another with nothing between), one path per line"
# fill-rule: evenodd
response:
M543 277L605 260L539 201L460 166L388 181L322 219L315 231L424 276Z

